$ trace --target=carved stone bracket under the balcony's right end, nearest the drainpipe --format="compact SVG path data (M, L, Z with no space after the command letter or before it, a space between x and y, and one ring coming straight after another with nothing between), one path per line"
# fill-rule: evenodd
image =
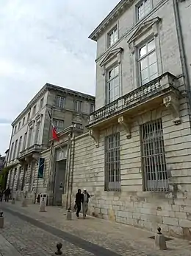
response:
M175 125L179 125L181 123L181 118L180 118L180 103L179 103L179 98L176 97L175 94L168 95L163 99L163 103L167 108L170 109L170 112L173 114L173 123Z

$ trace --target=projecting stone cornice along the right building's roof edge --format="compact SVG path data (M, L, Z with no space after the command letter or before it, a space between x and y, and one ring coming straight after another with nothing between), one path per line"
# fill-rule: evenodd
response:
M101 24L99 24L98 27L93 30L88 38L92 39L93 41L97 41L98 36L103 33L104 30L107 29L107 27L109 27L109 24L118 19L121 13L126 11L127 7L129 7L129 4L131 4L132 1L133 0L121 0L116 5L116 7L109 13L109 15L104 18L104 21L102 21Z

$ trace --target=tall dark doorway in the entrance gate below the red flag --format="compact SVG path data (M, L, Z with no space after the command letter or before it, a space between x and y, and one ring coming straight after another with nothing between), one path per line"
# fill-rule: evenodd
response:
M54 181L54 205L62 205L62 193L65 187L65 167L66 159L56 162L55 181Z

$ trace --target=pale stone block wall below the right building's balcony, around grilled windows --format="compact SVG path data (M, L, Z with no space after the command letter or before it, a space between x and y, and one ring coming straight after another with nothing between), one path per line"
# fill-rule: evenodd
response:
M167 172L170 191L143 191L140 151L140 125L162 118ZM132 122L131 139L120 131L121 191L104 191L104 136L101 131L99 147L84 134L76 138L73 197L78 188L87 188L90 215L140 226L156 231L161 226L169 235L191 239L191 135L187 104L181 100L181 124L174 125L167 108L149 111Z

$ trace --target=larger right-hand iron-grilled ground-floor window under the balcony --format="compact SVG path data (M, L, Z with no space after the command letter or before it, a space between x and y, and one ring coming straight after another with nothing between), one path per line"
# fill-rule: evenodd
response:
M145 190L168 190L162 120L141 125Z

